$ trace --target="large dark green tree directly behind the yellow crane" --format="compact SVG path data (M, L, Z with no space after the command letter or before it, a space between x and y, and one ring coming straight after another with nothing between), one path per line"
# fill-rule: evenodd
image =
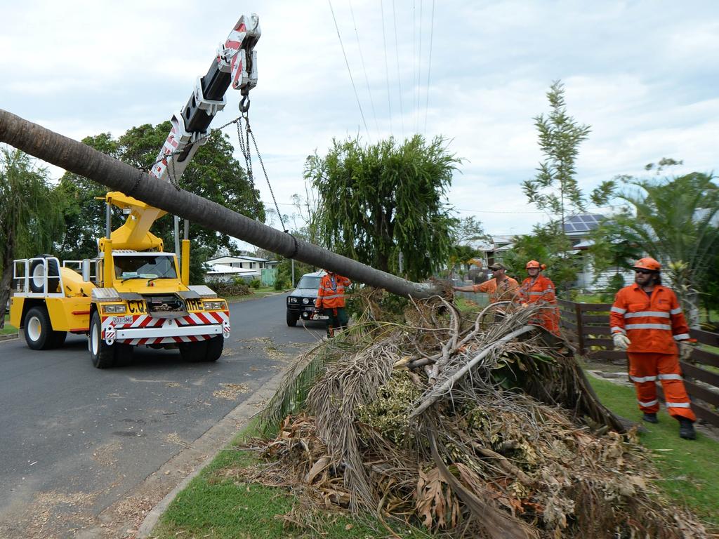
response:
M133 127L114 140L110 134L83 139L85 144L99 149L112 157L137 168L147 169L157 158L165 137L170 132L170 122L151 126L145 124ZM221 132L211 132L206 144L198 149L186 168L178 185L210 201L243 213L251 218L265 219L265 208L260 193L255 189L244 169L232 156L233 147L229 137ZM172 174L170 173L170 180ZM106 189L96 183L67 172L60 180L58 189L69 195L70 203L63 210L68 225L68 234L60 241L60 252L73 259L94 257L97 253L96 239L105 234L105 211L101 203L94 202L96 196L104 196ZM122 215L113 208L115 223ZM168 216L157 220L152 234L162 238L165 249L174 245L173 219ZM202 263L221 249L234 252L236 246L226 234L202 226L191 229L193 255L191 257L191 280L201 282Z

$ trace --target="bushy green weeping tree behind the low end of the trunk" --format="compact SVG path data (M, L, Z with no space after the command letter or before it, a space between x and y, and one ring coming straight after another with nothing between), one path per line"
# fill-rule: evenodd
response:
M457 219L444 201L459 162L441 137L421 135L362 147L333 141L325 157L308 157L305 178L319 193L316 226L324 246L378 270L420 280L441 267Z

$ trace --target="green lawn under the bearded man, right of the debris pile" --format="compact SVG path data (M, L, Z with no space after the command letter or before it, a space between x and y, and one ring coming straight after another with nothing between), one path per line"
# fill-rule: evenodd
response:
M619 386L588 377L600 400L623 418L639 420L633 387ZM707 526L719 531L719 442L702 433L697 440L679 438L679 424L662 408L659 424L642 423L646 432L641 443L651 451L654 464L663 478L659 485L669 497L686 504Z

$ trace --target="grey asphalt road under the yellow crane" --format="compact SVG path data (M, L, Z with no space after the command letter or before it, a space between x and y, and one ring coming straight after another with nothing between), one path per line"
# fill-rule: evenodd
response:
M100 370L83 336L0 342L0 537L75 537L318 341L319 323L286 325L285 296L230 305L212 364L143 348Z

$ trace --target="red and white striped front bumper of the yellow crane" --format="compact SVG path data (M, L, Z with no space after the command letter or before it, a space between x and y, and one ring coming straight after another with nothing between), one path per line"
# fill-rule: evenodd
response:
M105 316L102 338L132 346L204 341L216 335L229 337L229 311L189 313L180 318L155 318L151 315Z

